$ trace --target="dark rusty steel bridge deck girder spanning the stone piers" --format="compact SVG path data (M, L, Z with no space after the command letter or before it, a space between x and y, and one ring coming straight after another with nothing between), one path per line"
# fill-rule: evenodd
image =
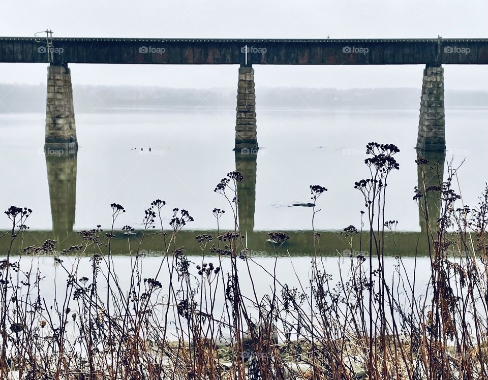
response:
M49 57L50 56L50 57ZM0 37L0 62L168 65L486 65L488 39Z

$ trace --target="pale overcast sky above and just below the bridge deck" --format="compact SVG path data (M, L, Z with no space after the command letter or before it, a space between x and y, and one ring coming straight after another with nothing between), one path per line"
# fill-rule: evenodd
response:
M487 0L3 2L0 36L487 38ZM73 84L233 87L237 66L70 65ZM256 66L256 86L420 87L422 66ZM445 86L488 90L488 67L447 66ZM0 83L45 83L46 65L0 64Z

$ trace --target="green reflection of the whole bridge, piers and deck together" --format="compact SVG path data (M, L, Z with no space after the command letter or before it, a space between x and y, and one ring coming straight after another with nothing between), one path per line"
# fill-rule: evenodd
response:
M258 154L235 153L236 170L240 171L244 180L239 183L238 191L238 219L239 229L246 237L251 256L275 255L276 248L269 242L267 231L254 231L254 214L256 201L256 168ZM424 187L439 186L442 183L445 152L419 151L418 157L425 157L429 164L418 167L418 187L423 192ZM76 165L77 154L46 155L47 174L49 181L49 195L51 200L52 231L26 231L23 236L23 246L39 245L47 239L58 241L57 248L68 248L79 245L81 237L73 233L76 203ZM428 228L425 223L424 204L426 203L431 221L430 229L435 231L436 221L440 215L440 193L429 192L425 201L419 202L419 225L421 232L385 232L385 254L395 256L412 256L415 252L427 255ZM0 232L0 235L2 232ZM186 231L178 234L177 246L185 246L188 254L200 254L200 245L195 236L200 234L212 235L217 245L217 231ZM290 239L279 249L280 256L310 256L315 252L312 231L286 231ZM320 231L318 254L324 256L347 256L350 246L341 231ZM135 239L137 239L137 236ZM360 236L354 238L353 252L369 246L369 232L362 234L362 246L359 245ZM20 239L19 239L20 241ZM6 240L0 240L0 247L5 251ZM112 240L112 252L117 255L128 254L127 237L116 233ZM164 241L161 235L146 236L142 249L152 255L161 255L164 251ZM18 252L16 246L14 251ZM174 247L173 247L174 248ZM103 248L105 249L105 248Z

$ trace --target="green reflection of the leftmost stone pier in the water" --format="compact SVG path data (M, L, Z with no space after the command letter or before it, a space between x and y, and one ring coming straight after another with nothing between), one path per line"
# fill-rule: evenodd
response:
M47 179L55 236L73 232L76 210L77 153L47 149Z

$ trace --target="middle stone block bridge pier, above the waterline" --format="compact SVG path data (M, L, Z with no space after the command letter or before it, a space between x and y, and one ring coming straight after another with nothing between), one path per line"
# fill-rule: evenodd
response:
M256 95L254 93L254 69L239 68L237 83L237 116L235 121L235 150L256 149Z

